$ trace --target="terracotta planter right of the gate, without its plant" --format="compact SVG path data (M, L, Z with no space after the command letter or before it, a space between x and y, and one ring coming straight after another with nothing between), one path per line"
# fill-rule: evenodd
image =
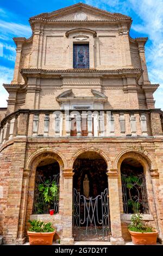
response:
M156 245L158 231L145 233L135 232L131 230L128 231L131 235L131 239L134 245Z

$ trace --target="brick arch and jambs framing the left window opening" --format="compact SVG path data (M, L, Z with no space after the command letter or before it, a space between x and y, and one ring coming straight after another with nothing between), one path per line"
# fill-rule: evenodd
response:
M33 212L33 202L34 202L34 191L35 191L35 176L36 169L38 166L47 166L49 164L58 163L58 168L60 172L59 178L59 215L62 215L63 211L63 176L62 170L66 161L63 160L64 157L61 154L51 148L40 149L29 156L26 162L26 168L23 172L23 190L22 190L22 200L21 200L21 212L20 212L20 224L18 227L18 240L23 240L26 234L26 226L28 225L28 220ZM41 219L41 215L38 218ZM46 217L44 217L46 221Z

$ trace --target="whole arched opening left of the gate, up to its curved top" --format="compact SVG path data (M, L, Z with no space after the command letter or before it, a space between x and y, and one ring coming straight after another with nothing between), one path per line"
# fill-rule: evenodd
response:
M46 159L36 168L33 214L54 214L59 212L59 163Z

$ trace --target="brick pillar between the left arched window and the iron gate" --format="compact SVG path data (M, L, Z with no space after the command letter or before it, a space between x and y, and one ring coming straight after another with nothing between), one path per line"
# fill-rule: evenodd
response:
M72 203L73 203L73 169L64 169L64 215L61 245L73 245L72 237Z

